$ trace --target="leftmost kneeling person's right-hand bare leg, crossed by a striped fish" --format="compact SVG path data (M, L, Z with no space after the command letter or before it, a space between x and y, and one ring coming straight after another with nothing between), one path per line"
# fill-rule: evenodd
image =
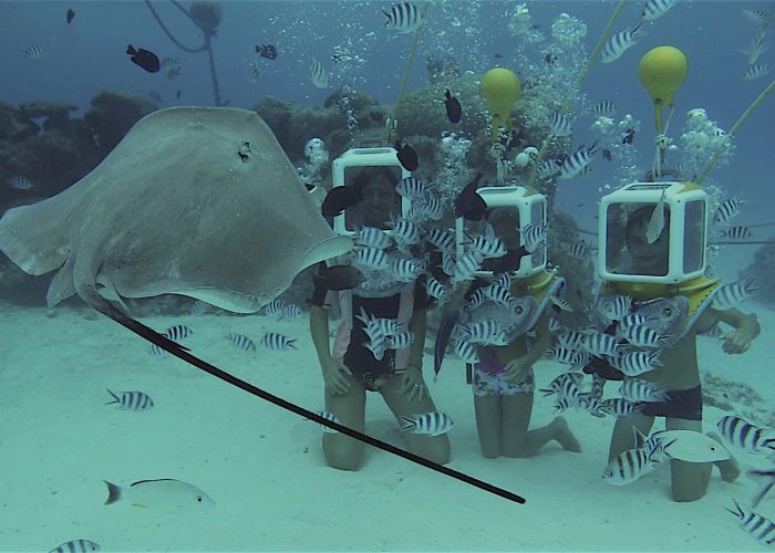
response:
M401 417L411 417L413 415L436 410L436 406L433 404L433 399L431 399L431 395L427 392L427 386L425 386L425 393L420 401L414 399L410 400L406 396L399 394L402 380L403 378L401 375L394 375L388 379L380 390L397 421L401 420ZM442 434L441 436L425 436L412 432L403 434L411 452L437 462L438 465L446 465L450 462L450 437L446 434Z

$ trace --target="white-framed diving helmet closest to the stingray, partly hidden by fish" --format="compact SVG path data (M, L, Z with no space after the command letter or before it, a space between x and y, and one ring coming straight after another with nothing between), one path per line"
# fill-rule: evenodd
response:
M359 181L370 178L386 178L393 186L403 178L411 177L412 173L403 168L397 158L397 152L390 147L351 148L339 156L331 164L331 178L333 188L339 186L354 186ZM385 213L385 222L390 222L390 216L406 217L412 207L411 200L402 198L397 192L394 197L393 209ZM361 222L361 206L345 209L342 215L333 218L333 230L340 234L354 234ZM388 226L385 226L388 228Z

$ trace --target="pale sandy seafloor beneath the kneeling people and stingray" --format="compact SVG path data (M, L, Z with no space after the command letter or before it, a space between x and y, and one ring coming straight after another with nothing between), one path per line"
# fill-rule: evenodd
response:
M724 355L717 342L704 338L700 363L751 384L773 405L775 312L756 312L763 334L748 354ZM754 486L747 477L730 484L714 471L707 495L683 504L669 499L666 466L630 486L607 484L601 473L610 418L566 413L582 453L552 444L531 459L484 459L471 390L454 356L440 382L428 382L436 405L456 424L450 466L527 498L524 505L376 449L368 450L358 472L330 469L314 422L174 357L155 358L140 337L86 313L63 307L50 319L44 309L0 309L2 551L48 551L79 538L99 542L103 551L761 549L724 509L732 497L750 500ZM208 314L143 321L157 330L185 323L194 330L185 344L195 354L272 394L322 409L306 315L280 322ZM258 342L267 330L298 337L299 351L259 346L246 353L225 338L235 332ZM430 356L425 366L432 380ZM559 371L540 361L538 387ZM105 388L145 392L155 407L133 413L106 406ZM709 429L721 414L705 409ZM551 416L550 401L537 394L533 425ZM378 394L369 397L366 417L370 434L403 444ZM741 461L750 467L756 460ZM156 478L195 483L217 505L174 515L103 504L103 479L128 486ZM760 512L775 519L775 499Z

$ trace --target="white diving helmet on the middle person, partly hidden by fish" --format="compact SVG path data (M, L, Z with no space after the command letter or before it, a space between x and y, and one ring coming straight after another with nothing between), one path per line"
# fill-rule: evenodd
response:
M469 241L467 237L484 234L486 223L490 222L496 236L503 240L507 250L509 250L507 257L516 255L514 258L516 265L508 268L508 272L514 278L525 279L544 271L546 269L546 248L542 244L536 246L530 253L520 254L518 250L520 250L520 247L524 248L526 246L526 237L534 233L535 229L541 229L541 232L542 229L546 229L546 196L524 186L485 186L478 188L476 194L487 205L485 216L480 221L469 221L462 217L455 220L457 257L463 255L465 251L464 246ZM496 212L498 215L495 215ZM496 218L502 222L496 223ZM531 229L534 230L531 231ZM492 267L493 262L497 264L498 259L486 259L480 270L474 274L486 278L492 276L495 272L503 272L502 270L495 270Z

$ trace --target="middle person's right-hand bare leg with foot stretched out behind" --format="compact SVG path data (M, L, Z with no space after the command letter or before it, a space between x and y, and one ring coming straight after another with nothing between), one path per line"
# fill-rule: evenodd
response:
M502 396L500 406L503 452L506 457L533 457L551 440L557 440L562 449L568 451L581 451L581 446L562 417L556 417L546 426L528 430L533 414L533 393Z

